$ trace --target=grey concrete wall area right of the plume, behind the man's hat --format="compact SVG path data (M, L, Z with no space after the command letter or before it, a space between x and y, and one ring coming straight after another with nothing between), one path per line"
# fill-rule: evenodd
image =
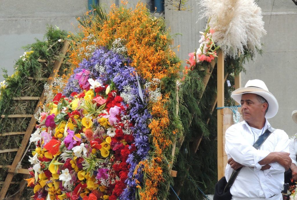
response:
M263 55L245 66L242 86L251 79L263 80L279 102L277 115L269 120L271 126L294 135L297 124L291 113L297 109L297 5L287 0L259 1L258 5L263 11L267 35L262 39Z

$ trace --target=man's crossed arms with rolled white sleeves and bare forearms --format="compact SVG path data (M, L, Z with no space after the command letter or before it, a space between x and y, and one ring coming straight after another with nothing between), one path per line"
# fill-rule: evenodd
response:
M225 150L231 156L228 164L235 170L242 166L249 166L258 170L270 169L279 173L288 170L292 162L289 157L290 153L287 153L289 152L289 139L285 132L281 132L278 136L274 152L269 152L255 149L241 134L238 134L238 131L229 128L226 131Z

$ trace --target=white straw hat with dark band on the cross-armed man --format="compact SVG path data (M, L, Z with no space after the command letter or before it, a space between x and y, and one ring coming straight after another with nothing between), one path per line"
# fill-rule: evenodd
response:
M266 99L269 105L268 111L265 115L267 119L272 118L277 114L277 111L278 111L277 99L273 96L273 94L271 94L268 91L268 88L263 81L258 79L249 80L247 84L245 84L244 88L238 88L237 90L233 91L231 94L231 97L240 104L241 95L246 93L257 94L262 96L264 99Z

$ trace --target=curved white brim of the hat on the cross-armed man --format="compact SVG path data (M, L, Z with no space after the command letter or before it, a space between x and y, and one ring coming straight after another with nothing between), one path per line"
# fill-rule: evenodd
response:
M232 92L231 97L240 104L241 96L246 93L252 93L262 96L268 102L268 111L265 115L267 119L273 118L278 112L278 102L277 99L270 92L263 90L262 88L255 87L247 87L247 88L239 88ZM297 116L296 116L297 117Z

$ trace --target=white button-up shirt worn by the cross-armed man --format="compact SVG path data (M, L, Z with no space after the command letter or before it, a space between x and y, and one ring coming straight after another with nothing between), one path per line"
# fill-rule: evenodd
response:
M268 120L263 129L271 127ZM276 129L266 139L259 150L253 147L254 142L262 134L262 130L252 132L246 121L234 124L227 129L225 134L225 151L229 158L244 165L238 173L230 192L233 199L273 199L281 200L281 191L284 185L285 168L278 163L269 164L267 170L260 170L258 164L271 152L289 152L289 137L285 131ZM229 164L226 166L226 180L230 179L233 169Z

